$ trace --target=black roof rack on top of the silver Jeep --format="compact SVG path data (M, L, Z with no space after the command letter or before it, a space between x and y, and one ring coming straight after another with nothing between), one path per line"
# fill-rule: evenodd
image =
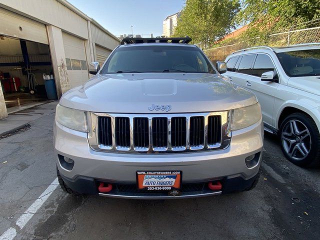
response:
M125 37L121 41L123 44L134 44L134 43L152 43L152 42L172 42L172 43L189 43L192 39L186 37Z

